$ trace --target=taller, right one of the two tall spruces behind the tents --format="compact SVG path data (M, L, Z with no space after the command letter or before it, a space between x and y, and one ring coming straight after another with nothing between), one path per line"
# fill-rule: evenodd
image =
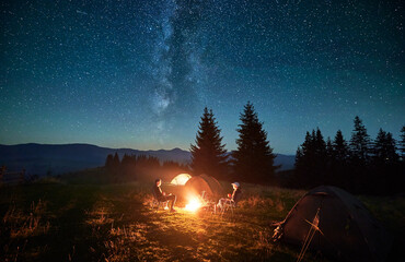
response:
M246 182L274 183L275 155L267 141L267 132L263 122L258 121L253 105L248 102L241 114L239 124L238 150L233 152L234 175L236 179Z

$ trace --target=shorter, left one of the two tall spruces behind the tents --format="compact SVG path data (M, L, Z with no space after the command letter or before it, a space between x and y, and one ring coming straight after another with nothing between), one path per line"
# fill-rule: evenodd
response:
M195 175L207 174L217 179L229 175L228 154L222 144L221 130L217 126L212 110L204 108L195 145L190 145L192 168Z

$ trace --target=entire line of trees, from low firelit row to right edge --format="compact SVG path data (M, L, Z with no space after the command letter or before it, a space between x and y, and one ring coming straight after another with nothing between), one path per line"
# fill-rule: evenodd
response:
M370 139L359 117L349 141L340 130L333 140L324 139L320 129L306 132L298 147L294 170L276 172L275 154L263 122L248 102L240 115L235 140L238 148L228 152L221 130L211 109L207 107L199 121L195 143L190 144L189 166L173 162L161 164L153 156L108 155L105 167L117 178L150 180L157 176L169 180L176 174L194 176L207 174L219 180L273 184L293 188L313 188L331 184L352 193L386 194L403 192L405 184L405 127L401 141L380 129ZM170 174L170 175L165 175Z

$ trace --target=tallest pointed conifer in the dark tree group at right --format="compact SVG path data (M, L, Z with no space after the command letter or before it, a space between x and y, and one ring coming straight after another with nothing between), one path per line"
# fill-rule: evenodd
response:
M350 139L350 151L352 157L360 162L361 165L367 164L370 153L370 135L367 133L366 127L361 119L355 117L355 129Z

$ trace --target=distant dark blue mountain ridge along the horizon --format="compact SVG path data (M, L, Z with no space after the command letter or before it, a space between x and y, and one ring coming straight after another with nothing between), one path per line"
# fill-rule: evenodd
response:
M182 164L190 162L192 154L181 148L138 151L131 148L107 148L91 144L19 144L0 145L0 165L8 170L18 171L25 168L28 175L59 175L85 168L104 166L108 154L147 155L158 157L161 162L173 160ZM294 156L277 155L276 165L282 169L293 167Z

